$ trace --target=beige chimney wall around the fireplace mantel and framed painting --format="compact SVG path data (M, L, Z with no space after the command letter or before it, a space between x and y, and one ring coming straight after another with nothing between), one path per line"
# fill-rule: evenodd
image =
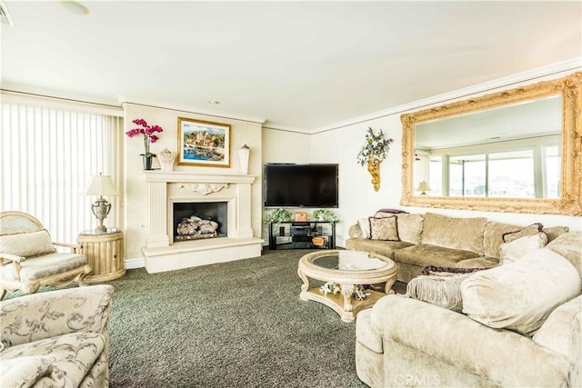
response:
M174 171L190 171L199 174L239 174L240 164L238 159L238 149L246 144L250 148L250 158L248 174L256 175L256 181L252 185L251 204L251 227L254 236L261 236L261 216L262 216L262 182L263 182L263 161L261 124L233 120L204 114L189 114L183 111L172 109L146 107L137 104L124 105L125 132L134 128L132 123L136 118L143 118L147 124L160 125L164 132L159 134L160 139L152 144L150 151L154 154L167 148L177 152L177 120L178 117L187 117L196 120L209 121L220 124L230 124L231 150L230 167L197 167L188 165L175 165ZM148 215L148 188L146 178L143 174L142 158L139 154L144 153L143 138L125 136L125 259L140 259L143 257L142 247L146 246L146 238L149 230ZM154 159L154 168L159 168L159 162Z

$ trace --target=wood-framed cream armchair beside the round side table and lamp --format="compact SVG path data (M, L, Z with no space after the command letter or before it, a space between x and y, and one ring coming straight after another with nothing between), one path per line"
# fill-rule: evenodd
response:
M71 253L58 253L64 246ZM83 284L91 272L77 245L54 243L35 217L22 212L0 213L0 299L6 291L35 293L41 285Z

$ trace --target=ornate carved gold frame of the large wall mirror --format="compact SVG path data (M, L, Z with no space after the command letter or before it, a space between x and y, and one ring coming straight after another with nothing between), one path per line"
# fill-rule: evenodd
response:
M516 104L527 100L562 95L562 169L560 198L475 198L413 195L415 124ZM483 95L465 101L402 114L402 199L404 206L478 210L486 212L582 215L582 72L563 78Z

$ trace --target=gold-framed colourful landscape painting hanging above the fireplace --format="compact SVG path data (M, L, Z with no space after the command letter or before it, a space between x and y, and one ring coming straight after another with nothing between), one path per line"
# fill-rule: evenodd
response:
M177 164L230 167L230 125L178 117Z

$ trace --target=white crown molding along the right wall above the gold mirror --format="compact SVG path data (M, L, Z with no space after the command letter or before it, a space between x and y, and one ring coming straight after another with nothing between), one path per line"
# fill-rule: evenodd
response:
M463 89L457 89L452 92L447 92L442 95L435 95L422 100L417 100L410 104L402 104L371 114L364 114L336 124L324 125L312 129L309 133L319 134L332 131L349 125L366 123L367 121L376 120L378 118L386 117L392 114L402 114L407 111L425 108L433 104L442 104L444 102L450 102L459 98L466 98L469 95L483 94L486 92L494 91L495 89L514 86L519 83L531 82L542 77L547 78L548 80L552 78L559 78L561 76L580 70L582 70L582 57L577 57L554 65L538 67L527 72L518 73L517 75L509 75L506 77L497 78L493 81L488 81L483 84L473 85Z

